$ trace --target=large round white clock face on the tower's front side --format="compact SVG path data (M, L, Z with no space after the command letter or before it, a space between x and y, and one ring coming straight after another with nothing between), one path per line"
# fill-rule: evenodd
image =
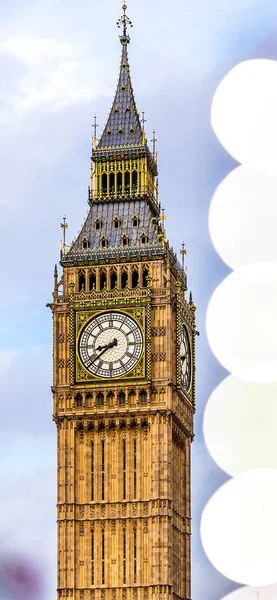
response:
M141 353L141 330L124 313L106 312L98 315L80 335L81 361L97 377L122 377L137 364Z

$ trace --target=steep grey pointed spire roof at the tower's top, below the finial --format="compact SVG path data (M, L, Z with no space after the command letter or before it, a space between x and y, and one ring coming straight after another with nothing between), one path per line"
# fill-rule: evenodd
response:
M122 44L117 89L98 148L137 146L143 143L144 134L133 93L127 43Z

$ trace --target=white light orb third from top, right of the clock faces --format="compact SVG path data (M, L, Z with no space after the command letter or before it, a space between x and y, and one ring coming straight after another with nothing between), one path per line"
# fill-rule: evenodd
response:
M207 309L210 347L246 381L277 381L277 262L240 267L214 291Z

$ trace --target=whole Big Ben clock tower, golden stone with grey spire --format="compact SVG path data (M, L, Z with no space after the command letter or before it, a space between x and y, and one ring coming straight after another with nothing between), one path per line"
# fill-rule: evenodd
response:
M166 239L126 9L89 211L54 273L57 598L189 600L195 306Z

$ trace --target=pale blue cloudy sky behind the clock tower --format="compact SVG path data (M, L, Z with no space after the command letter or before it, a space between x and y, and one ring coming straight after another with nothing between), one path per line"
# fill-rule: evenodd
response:
M104 5L104 6L103 6ZM0 6L0 531L24 550L55 597L55 427L51 301L60 222L75 237L87 210L91 125L114 94L121 2L9 0ZM158 137L160 199L168 238L188 250L198 307L197 413L193 443L193 600L234 589L203 553L201 510L227 479L208 456L202 415L225 376L209 351L205 311L228 268L208 235L208 208L235 166L211 131L213 93L241 60L277 58L275 0L129 0L131 73L149 140ZM15 525L13 525L13 519Z

